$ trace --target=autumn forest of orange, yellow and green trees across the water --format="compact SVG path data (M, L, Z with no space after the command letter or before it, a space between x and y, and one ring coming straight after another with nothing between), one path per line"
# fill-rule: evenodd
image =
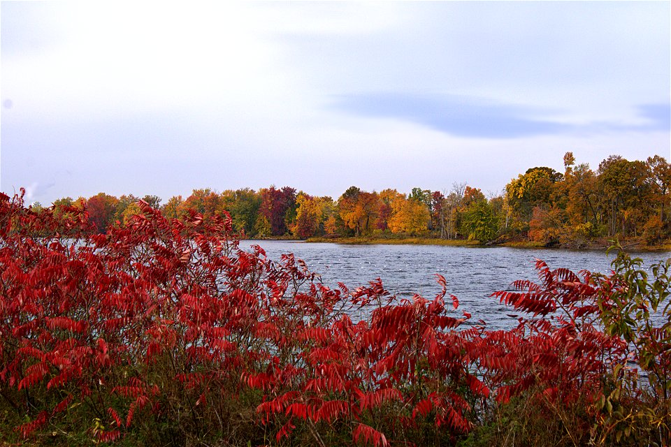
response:
M589 247L596 240L634 241L663 247L671 236L671 165L661 156L628 161L609 156L595 171L568 152L564 172L529 168L486 196L476 186L454 182L451 189L413 188L363 191L351 186L334 200L284 186L254 191L194 189L190 196L143 200L168 218L189 210L205 219L230 214L241 238L425 237L480 243L526 241L536 246ZM64 207L85 207L97 231L127 223L139 211L138 197L99 193L89 198L59 198ZM35 203L34 210L42 205Z

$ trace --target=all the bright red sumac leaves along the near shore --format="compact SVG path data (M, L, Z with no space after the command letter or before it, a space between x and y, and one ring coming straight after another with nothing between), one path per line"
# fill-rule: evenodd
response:
M596 325L587 274L539 261L540 285L494 295L540 318L463 329L470 315L449 314L459 301L446 305L440 275L433 300L396 302L379 279L331 289L293 255L240 251L230 219L168 221L139 205L127 227L88 237L83 210L38 215L0 196L0 386L31 415L24 436L77 411L107 427L91 428L99 441L140 430L138 418L205 436L199 421L220 418L222 398L253 390L277 440L296 427L318 443L320 430L373 446L427 426L454 437L490 395L595 396L623 353Z

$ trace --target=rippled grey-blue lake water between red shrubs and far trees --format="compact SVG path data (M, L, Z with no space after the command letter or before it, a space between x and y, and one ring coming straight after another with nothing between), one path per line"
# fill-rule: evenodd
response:
M550 268L569 268L573 272L590 270L608 273L614 254L605 251L570 251L556 249L513 249L507 247L445 247L435 245L342 245L306 243L300 241L240 242L241 249L259 244L268 258L279 261L281 254L293 253L303 259L308 268L322 275L331 288L338 281L350 289L368 284L377 277L387 290L398 298L410 298L414 293L433 298L441 288L435 274L447 279L447 293L459 298L459 310L472 314L471 321L482 318L491 329L511 328L517 323L514 309L500 305L489 295L510 290L517 279L537 280L534 269L537 258ZM640 253L635 256L644 265L666 259L665 253ZM510 314L510 315L509 315Z

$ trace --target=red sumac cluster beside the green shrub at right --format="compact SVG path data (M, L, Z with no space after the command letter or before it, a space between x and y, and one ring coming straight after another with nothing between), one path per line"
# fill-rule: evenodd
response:
M589 272L581 278L570 270L550 270L543 261L536 268L540 284L515 281L516 292L493 296L541 317L519 318L515 330L484 334L489 349L482 353L482 366L501 383L499 402L530 388L563 402L589 401L600 393L609 369L625 362L626 343L603 332L599 290L590 284Z

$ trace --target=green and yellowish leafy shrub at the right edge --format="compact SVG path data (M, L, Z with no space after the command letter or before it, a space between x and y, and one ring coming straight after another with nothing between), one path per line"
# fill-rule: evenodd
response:
M612 365L609 391L595 404L592 441L627 445L671 442L671 258L644 270L616 244L612 274L594 279L607 335L626 342L626 356ZM641 374L630 371L630 363ZM639 384L640 376L647 385ZM608 379L608 378L607 378ZM635 400L633 396L642 396Z

